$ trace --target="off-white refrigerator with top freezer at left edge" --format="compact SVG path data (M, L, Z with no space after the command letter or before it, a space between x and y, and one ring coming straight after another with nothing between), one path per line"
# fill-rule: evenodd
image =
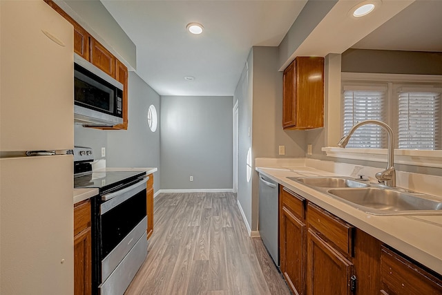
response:
M0 294L73 294L73 27L0 1Z

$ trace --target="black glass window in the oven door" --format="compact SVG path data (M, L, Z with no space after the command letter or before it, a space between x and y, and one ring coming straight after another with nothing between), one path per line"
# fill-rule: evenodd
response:
M146 217L146 189L101 216L102 258Z

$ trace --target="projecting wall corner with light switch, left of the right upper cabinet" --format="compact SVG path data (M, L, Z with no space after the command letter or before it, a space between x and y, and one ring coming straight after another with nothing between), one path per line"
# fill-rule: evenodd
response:
M254 46L236 87L239 105L238 201L252 231L258 230L259 188L254 159L305 156L305 131L282 130L282 73L278 48ZM251 134L249 135L249 128ZM285 146L285 155L278 146ZM247 182L246 157L252 148L252 178Z

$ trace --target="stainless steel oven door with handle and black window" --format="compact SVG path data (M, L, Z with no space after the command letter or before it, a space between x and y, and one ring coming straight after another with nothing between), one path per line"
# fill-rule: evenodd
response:
M101 283L119 267L131 249L145 235L146 217L146 182L148 177L124 189L102 195L100 205L99 228L99 263L101 263ZM144 239L146 240L146 239ZM147 241L144 246L144 258L147 254ZM137 251L140 253L140 251ZM144 261L142 258L141 263ZM138 268L137 268L138 269ZM135 271L136 272L136 271ZM130 283L130 281L129 281Z

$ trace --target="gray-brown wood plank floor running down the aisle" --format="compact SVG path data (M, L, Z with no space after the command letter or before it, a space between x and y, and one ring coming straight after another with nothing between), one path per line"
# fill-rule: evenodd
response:
M233 193L162 193L133 294L287 294L260 238L250 238Z

